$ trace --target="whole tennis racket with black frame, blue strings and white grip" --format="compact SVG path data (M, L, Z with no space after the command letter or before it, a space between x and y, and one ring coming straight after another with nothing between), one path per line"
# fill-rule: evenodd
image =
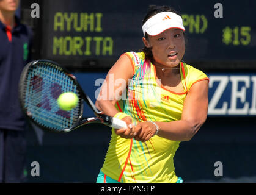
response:
M57 98L65 92L73 92L78 105L72 110L60 110ZM126 122L104 115L89 96L84 93L73 74L50 60L35 60L28 63L21 73L19 83L21 108L27 117L37 126L54 132L70 132L92 122L120 129L127 127ZM84 102L95 114L82 118Z

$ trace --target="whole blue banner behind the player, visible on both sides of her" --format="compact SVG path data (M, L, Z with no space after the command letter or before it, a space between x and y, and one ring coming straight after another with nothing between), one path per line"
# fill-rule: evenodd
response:
M207 74L208 116L256 116L256 74ZM75 73L81 87L95 102L106 73ZM93 116L85 107L84 116Z

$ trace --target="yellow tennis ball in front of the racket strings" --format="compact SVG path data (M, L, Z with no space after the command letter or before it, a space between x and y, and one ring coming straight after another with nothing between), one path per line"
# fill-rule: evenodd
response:
M72 110L78 104L78 96L72 92L62 93L57 102L61 110Z

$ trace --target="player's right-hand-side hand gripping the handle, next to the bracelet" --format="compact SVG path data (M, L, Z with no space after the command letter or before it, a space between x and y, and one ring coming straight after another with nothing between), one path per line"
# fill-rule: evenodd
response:
M139 122L133 127L133 133L136 133L135 140L145 142L155 135L156 126L152 122Z

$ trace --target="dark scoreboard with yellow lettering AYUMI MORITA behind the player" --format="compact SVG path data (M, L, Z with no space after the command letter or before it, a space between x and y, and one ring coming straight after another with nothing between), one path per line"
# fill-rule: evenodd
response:
M202 70L256 69L256 1L248 0L42 0L41 58L73 69L109 69L123 52L144 47L141 21L150 4L180 12L186 63Z

